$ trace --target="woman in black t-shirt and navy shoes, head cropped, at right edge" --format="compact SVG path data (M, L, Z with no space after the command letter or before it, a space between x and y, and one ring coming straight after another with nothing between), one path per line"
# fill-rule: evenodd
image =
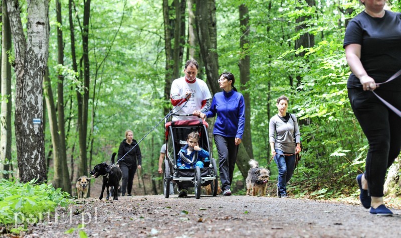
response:
M360 0L365 10L353 18L344 38L351 68L347 82L352 110L369 142L366 167L356 179L359 198L370 213L390 216L383 202L387 168L401 149L401 118L383 104L374 92L401 108L401 78L384 83L401 69L401 14L384 10L385 0Z

